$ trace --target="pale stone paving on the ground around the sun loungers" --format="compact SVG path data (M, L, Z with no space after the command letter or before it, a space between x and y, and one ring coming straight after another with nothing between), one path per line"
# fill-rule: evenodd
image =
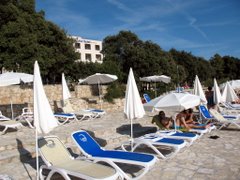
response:
M146 122L145 125L151 126L150 118L145 117L139 122ZM123 127L128 122L122 113L107 114L101 119L89 120L80 123L70 123L56 128L51 134L58 135L64 142L70 143L70 133L80 128L96 131L96 137L107 140L111 136L126 136L120 134L117 129ZM141 128L140 126L138 128ZM112 131L115 129L115 132ZM113 133L115 133L113 135ZM210 136L219 136L211 139ZM10 132L1 136L1 144L17 141L28 144L33 143L34 131L25 127L20 132ZM18 140L17 140L18 139ZM120 142L119 142L120 143ZM114 144L116 145L116 143ZM18 144L19 147L19 144ZM106 147L111 147L107 145ZM32 148L29 146L29 148ZM9 149L11 149L9 147ZM26 151L30 151L25 147ZM159 159L157 164L142 179L165 179L165 180L239 180L240 179L240 130L235 127L225 130L215 130L206 134L196 141L192 146L186 147L171 159ZM2 151L3 152L3 151ZM21 152L19 152L21 154ZM1 156L1 154L0 154ZM8 174L13 179L35 179L35 159L28 160L13 159L11 162L0 161L0 174ZM131 173L132 167L129 168ZM0 176L1 179L1 176Z

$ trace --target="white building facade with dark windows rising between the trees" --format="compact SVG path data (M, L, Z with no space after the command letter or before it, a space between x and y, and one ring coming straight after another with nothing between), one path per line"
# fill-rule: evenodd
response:
M71 36L75 40L73 46L75 51L80 54L77 61L82 62L103 62L103 55L101 54L102 50L102 41L83 39L80 36Z

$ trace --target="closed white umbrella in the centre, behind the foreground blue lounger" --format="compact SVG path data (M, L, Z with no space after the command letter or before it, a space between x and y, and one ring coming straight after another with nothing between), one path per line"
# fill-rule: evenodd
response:
M133 75L132 68L129 70L125 103L124 103L124 114L127 119L131 121L131 147L133 142L133 119L142 118L145 114L141 97L138 92L137 84Z

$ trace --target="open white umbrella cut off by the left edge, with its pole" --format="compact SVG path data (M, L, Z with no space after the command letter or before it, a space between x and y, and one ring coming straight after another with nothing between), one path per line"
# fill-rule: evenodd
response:
M17 73L17 72L6 72L0 74L0 86L11 86L23 83L33 82L33 75L26 73ZM11 103L11 111L12 111L12 119L14 119L12 99L10 99Z

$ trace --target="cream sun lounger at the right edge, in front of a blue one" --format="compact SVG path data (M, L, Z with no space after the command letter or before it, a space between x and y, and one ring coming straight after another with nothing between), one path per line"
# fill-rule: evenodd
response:
M230 124L233 124L238 128L240 128L240 119L237 119L237 120L226 119L215 109L210 109L210 113L220 124L222 124L219 129L222 129L223 127L228 127Z

